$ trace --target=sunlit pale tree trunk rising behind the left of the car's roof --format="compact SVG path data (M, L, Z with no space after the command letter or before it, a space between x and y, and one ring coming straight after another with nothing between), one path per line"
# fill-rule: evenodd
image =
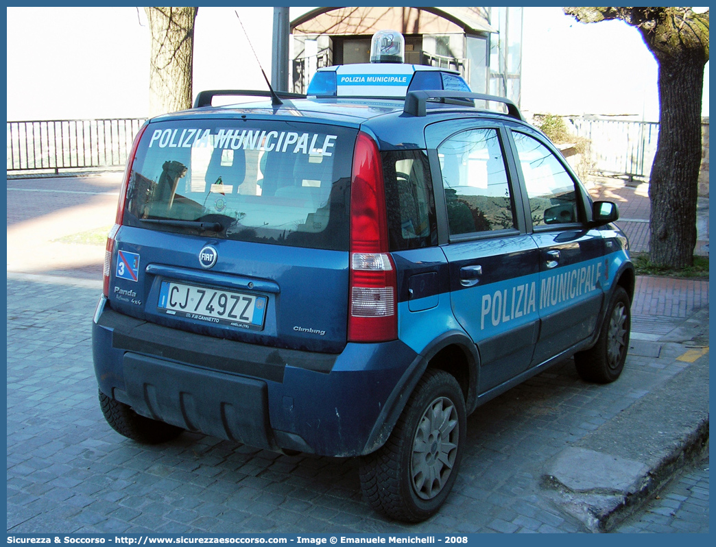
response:
M192 103L194 20L198 8L145 8L152 35L149 115L186 110Z

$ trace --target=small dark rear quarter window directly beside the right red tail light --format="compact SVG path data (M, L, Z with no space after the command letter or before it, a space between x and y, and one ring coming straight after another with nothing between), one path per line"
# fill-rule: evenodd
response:
M437 219L427 155L384 152L383 180L391 251L437 245Z

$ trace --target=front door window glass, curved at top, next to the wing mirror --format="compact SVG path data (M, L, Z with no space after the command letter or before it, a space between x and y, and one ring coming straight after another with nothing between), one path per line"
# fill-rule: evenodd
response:
M579 221L574 180L546 146L512 133L525 179L533 226Z

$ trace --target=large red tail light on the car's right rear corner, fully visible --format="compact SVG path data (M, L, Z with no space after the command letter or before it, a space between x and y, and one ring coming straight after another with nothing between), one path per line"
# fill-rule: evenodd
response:
M388 253L383 169L376 142L363 132L353 152L350 256L349 341L396 339L397 277Z

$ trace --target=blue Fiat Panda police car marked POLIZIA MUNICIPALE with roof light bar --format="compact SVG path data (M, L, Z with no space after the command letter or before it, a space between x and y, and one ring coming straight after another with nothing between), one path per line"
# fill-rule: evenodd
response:
M241 93L200 93L132 147L92 330L115 430L356 456L368 502L421 521L478 406L572 356L619 377L618 210L513 103L395 63L211 106Z

